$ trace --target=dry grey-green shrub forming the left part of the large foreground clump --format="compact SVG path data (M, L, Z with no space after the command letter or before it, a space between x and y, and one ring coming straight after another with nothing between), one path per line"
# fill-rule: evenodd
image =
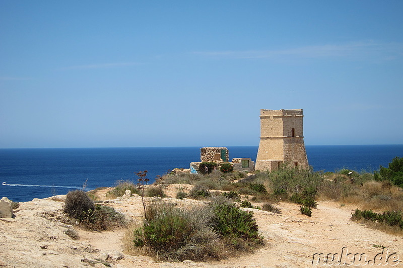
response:
M209 207L191 210L162 203L147 209L142 227L132 232L132 243L160 260L183 261L220 259L223 247L211 228Z

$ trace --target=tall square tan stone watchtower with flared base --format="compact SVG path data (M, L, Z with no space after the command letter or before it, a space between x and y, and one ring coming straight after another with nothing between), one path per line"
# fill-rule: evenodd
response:
M302 109L260 110L260 143L255 169L275 170L282 163L308 168Z

